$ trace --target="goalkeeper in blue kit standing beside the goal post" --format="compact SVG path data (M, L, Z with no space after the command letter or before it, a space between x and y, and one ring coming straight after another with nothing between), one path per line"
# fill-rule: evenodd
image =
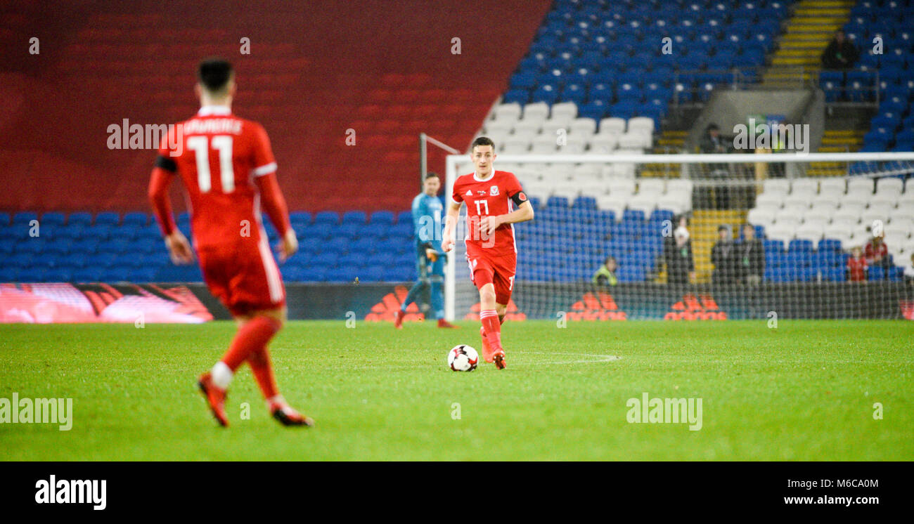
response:
M441 178L435 173L428 173L422 184L422 193L412 199L412 225L416 236L416 269L419 279L411 289L403 305L397 311L394 327L403 327L403 318L409 304L417 301L425 288L430 287L431 314L438 319L439 328L455 328L444 320L444 252L441 251Z

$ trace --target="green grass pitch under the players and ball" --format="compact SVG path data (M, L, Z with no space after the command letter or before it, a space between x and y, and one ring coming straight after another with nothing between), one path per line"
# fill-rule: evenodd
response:
M477 326L290 322L271 355L316 427L275 423L243 367L221 429L196 379L233 323L0 325L0 397L71 397L74 411L69 432L0 424L0 459L914 458L914 322L508 322L507 370L450 371ZM702 428L628 423L643 393L702 399Z

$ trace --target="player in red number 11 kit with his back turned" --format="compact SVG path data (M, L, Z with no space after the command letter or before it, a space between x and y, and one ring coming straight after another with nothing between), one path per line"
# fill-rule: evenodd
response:
M263 127L232 114L235 75L225 60L206 60L198 70L200 110L169 130L155 161L149 198L172 260L190 264L194 252L210 292L238 321L238 332L198 385L219 424L228 425L226 391L232 376L250 363L276 420L312 425L279 393L267 344L286 317L285 288L260 221L260 205L282 235L280 259L298 249L289 213L276 182L276 162ZM191 249L175 226L168 185L181 176L190 204Z

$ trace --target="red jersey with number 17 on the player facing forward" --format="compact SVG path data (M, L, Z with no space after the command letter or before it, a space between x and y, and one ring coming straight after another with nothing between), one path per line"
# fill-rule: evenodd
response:
M484 216L506 215L514 211L515 195L520 202L526 202L526 195L514 173L495 171L485 180L480 180L476 173L457 178L451 200L454 204L466 203L467 235L464 241L468 256L517 252L513 224L499 225L494 237L484 238L478 233L479 221Z

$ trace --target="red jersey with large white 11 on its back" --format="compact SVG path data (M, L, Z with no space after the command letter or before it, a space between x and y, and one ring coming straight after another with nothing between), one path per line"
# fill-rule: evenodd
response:
M226 107L204 107L170 131L159 155L175 162L184 181L197 248L234 242L245 225L251 240L260 242L260 194L254 177L276 171L263 126L232 115Z

